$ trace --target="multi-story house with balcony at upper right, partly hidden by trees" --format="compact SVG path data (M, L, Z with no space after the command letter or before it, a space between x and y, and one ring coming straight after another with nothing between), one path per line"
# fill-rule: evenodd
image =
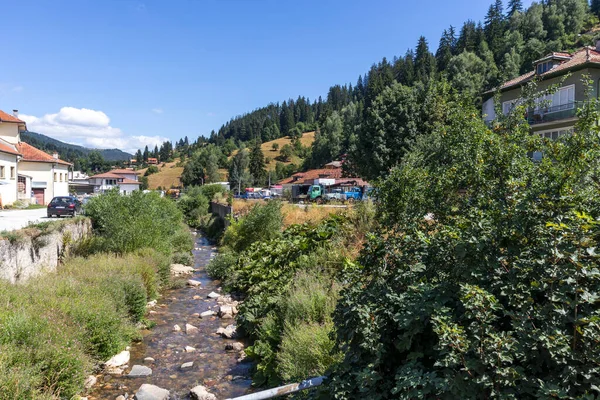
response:
M596 47L584 47L574 53L551 53L534 62L534 69L524 75L504 82L498 89L484 93L483 115L486 121L496 118L494 94L500 91L502 113L508 114L521 99L522 88L537 80L536 90L543 92L559 85L553 94L536 99L535 109L527 112L533 133L556 139L571 132L577 122L577 108L586 101L588 85L584 77L593 81L591 93L600 93L600 42Z

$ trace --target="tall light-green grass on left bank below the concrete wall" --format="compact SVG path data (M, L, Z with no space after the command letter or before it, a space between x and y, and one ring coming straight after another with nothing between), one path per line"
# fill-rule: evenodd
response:
M68 260L23 285L0 282L0 400L71 398L93 366L139 337L169 258L154 250Z

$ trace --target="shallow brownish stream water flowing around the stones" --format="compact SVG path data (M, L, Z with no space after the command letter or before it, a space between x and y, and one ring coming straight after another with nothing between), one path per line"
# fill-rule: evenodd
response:
M168 389L171 399L189 399L190 389L196 385L204 385L218 399L249 393L252 364L238 362L237 352L225 350L226 344L236 340L223 339L215 334L218 328L233 324L235 320L192 316L194 313L218 310L216 300L208 299L207 295L210 292L219 293L219 281L212 280L205 270L216 253L216 247L198 233L193 251L196 272L184 277L186 280L200 281L202 285L163 292L157 305L152 308L154 312L147 316L156 325L150 330L142 331L143 340L131 345L129 368L123 375L97 375L98 382L88 399L115 400L120 395L133 398L133 394L144 383ZM197 327L198 332L186 334L186 323ZM173 331L175 324L181 327L180 332ZM196 350L186 353L186 346ZM144 361L147 357L152 357L155 361ZM190 361L194 363L191 368L181 368L183 363ZM134 365L150 367L152 375L127 377Z

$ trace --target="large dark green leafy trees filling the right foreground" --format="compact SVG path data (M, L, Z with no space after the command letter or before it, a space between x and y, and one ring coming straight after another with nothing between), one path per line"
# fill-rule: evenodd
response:
M335 398L596 396L597 104L556 141L525 107L496 132L450 107L379 186L383 228L336 310Z

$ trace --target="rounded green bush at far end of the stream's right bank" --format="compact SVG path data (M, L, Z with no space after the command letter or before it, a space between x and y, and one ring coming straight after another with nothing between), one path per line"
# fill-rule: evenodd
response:
M255 204L244 218L232 221L223 235L222 244L236 252L242 252L254 242L280 237L282 224L280 202Z

